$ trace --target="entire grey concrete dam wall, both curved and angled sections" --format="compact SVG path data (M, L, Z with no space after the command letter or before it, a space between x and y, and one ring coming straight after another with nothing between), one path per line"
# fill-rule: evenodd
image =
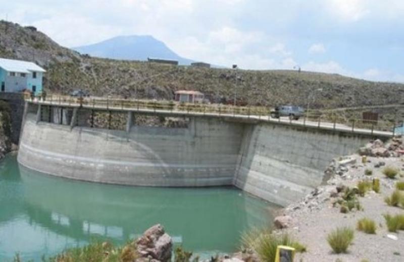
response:
M137 119L144 117L171 124L140 124ZM18 162L42 173L91 182L234 185L286 206L323 182L333 158L354 153L371 138L256 119L147 116L136 110L27 102Z

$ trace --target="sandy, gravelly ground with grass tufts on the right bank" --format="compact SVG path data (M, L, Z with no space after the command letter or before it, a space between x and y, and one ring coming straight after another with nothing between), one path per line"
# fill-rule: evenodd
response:
M394 166L403 174L404 162L400 158L373 158L368 157L370 163L362 164L358 155L356 164L348 165L348 171L343 175L336 175L328 181L327 186L320 188L320 193L313 199L306 198L303 202L293 204L284 211L285 215L293 218L293 225L287 229L302 244L308 248L306 253L297 254L295 261L404 261L404 231L390 233L387 231L382 214L404 214L404 209L389 207L384 203L384 198L393 192L394 183L404 178L398 176L392 180L382 174L383 166L375 168L374 164L380 161L386 166ZM372 169L372 176L365 176L365 169ZM339 212L339 207L333 207L335 201L330 196L330 190L335 189L335 184L355 186L363 179L380 178L380 193L368 192L364 198L359 197L364 211L351 211L348 214ZM334 185L333 185L334 184ZM307 202L307 203L305 203ZM361 218L371 218L377 224L376 235L366 234L356 230L357 221ZM327 243L327 234L337 227L348 226L355 229L355 239L349 247L347 254L334 254ZM398 240L393 240L387 235L395 235ZM398 254L399 253L399 254ZM337 260L340 259L340 260Z

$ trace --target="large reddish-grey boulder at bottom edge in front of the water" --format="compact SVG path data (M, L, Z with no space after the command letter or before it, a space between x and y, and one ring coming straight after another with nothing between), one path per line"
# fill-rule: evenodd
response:
M147 229L136 240L136 246L137 252L144 258L151 257L160 261L171 260L172 239L160 224Z

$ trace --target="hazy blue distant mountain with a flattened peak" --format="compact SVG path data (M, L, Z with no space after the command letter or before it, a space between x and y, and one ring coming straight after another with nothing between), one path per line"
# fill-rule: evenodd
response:
M180 64L192 62L190 59L179 56L165 43L149 35L117 36L73 49L83 54L113 59L147 60L147 57L155 57L178 60Z

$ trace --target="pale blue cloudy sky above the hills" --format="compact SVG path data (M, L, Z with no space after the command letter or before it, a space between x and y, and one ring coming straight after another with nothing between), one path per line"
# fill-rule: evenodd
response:
M3 3L4 2L4 3ZM404 83L404 0L0 0L66 47L152 35L193 60Z

